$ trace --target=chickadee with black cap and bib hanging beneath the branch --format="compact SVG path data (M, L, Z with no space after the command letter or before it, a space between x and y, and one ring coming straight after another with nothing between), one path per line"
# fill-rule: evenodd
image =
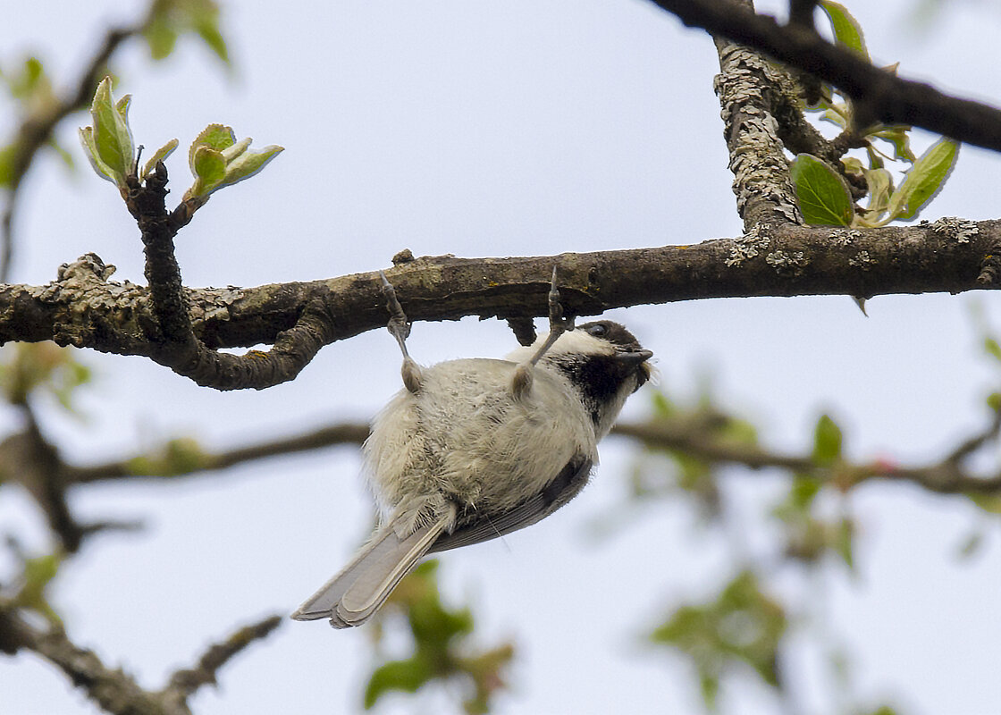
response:
M375 418L363 451L384 514L343 571L292 614L334 628L369 618L426 554L478 544L553 514L584 488L598 442L651 376L644 349L611 320L575 328L550 291L550 333L507 360L421 368L409 323L382 276L403 390Z

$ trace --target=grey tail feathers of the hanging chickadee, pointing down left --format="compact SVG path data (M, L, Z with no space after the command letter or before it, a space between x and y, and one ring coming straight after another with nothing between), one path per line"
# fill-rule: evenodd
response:
M299 606L292 618L329 618L334 628L361 625L413 570L451 520L450 515L444 515L402 539L396 535L395 521L390 520L375 532L357 556Z

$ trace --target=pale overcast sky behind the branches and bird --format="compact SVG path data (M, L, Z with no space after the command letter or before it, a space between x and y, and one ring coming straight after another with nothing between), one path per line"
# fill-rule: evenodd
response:
M849 3L877 62L908 77L995 101L990 49L1001 14L954 2L932 25L914 2ZM15 3L0 24L0 66L37 53L65 84L109 22L142 3ZM773 3L773 5L782 5ZM285 3L225 9L230 77L185 41L152 64L137 43L115 66L133 95L138 143L182 147L209 122L258 145L286 147L258 177L224 189L178 236L185 283L256 285L389 265L414 254L541 255L690 243L740 233L730 190L709 38L639 0ZM98 179L75 139L72 176L52 156L24 187L17 282L42 283L88 251L142 281L141 243L117 191ZM9 107L0 130L9 135ZM919 151L930 141L919 134ZM173 196L187 185L186 152L168 162ZM999 215L1001 160L964 147L927 216ZM1001 326L990 294L877 297L865 318L847 297L691 301L616 310L659 359L663 387L690 396L707 376L728 407L753 417L767 444L803 449L824 411L855 458L920 462L941 456L986 420L998 375L978 353L971 305ZM422 363L498 356L515 345L497 321L417 323ZM192 435L210 448L252 443L339 420L367 419L399 388L398 354L382 330L322 350L299 379L262 393L223 394L139 358L88 352L97 373L80 396L85 421L44 412L66 457L93 462ZM627 416L647 412L641 392ZM4 431L16 428L0 412ZM627 494L630 446L610 439L593 485L553 519L505 540L442 557L447 597L470 599L485 639L513 638L513 690L498 712L692 712L693 680L677 659L643 646L669 605L717 588L731 573L727 543L694 528L687 508L657 505L614 537L589 531ZM782 482L735 474L727 506L748 549ZM859 574L833 567L809 588L858 664L867 702L910 713L997 712L1001 680L1001 530L956 563L979 516L960 499L866 486ZM92 519L143 519L139 536L95 540L63 569L54 600L71 637L147 687L189 665L208 640L272 611L290 612L343 563L370 523L354 449L252 465L174 485L88 488L74 495ZM43 550L31 503L0 492L0 531ZM0 568L10 563L0 558ZM2 578L2 576L0 576ZM354 711L370 669L364 629L289 623L221 673L193 702L200 715ZM832 712L817 654L788 667L804 712ZM776 712L768 693L726 691L728 713ZM424 699L436 712L441 694ZM410 712L409 701L400 709ZM4 713L93 713L61 674L31 656L0 661ZM389 709L392 709L392 704Z

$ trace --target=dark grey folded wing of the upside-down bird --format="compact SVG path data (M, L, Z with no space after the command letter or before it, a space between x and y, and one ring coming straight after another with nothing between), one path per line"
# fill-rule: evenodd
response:
M473 511L460 516L455 531L441 534L427 553L478 544L532 526L576 497L588 483L593 465L594 461L590 457L575 455L556 479L535 497L499 515L479 516Z

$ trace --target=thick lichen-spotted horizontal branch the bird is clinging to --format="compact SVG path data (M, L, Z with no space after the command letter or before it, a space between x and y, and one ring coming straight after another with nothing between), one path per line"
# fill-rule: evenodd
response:
M707 297L952 293L992 287L1001 221L940 219L868 230L759 224L739 238L695 245L518 258L430 256L386 271L413 320L547 314L553 266L568 311ZM108 278L93 253L47 285L0 285L0 342L52 339L153 355L156 319L143 286ZM328 341L385 325L377 273L252 288L186 289L191 325L210 348L273 343L317 296Z

